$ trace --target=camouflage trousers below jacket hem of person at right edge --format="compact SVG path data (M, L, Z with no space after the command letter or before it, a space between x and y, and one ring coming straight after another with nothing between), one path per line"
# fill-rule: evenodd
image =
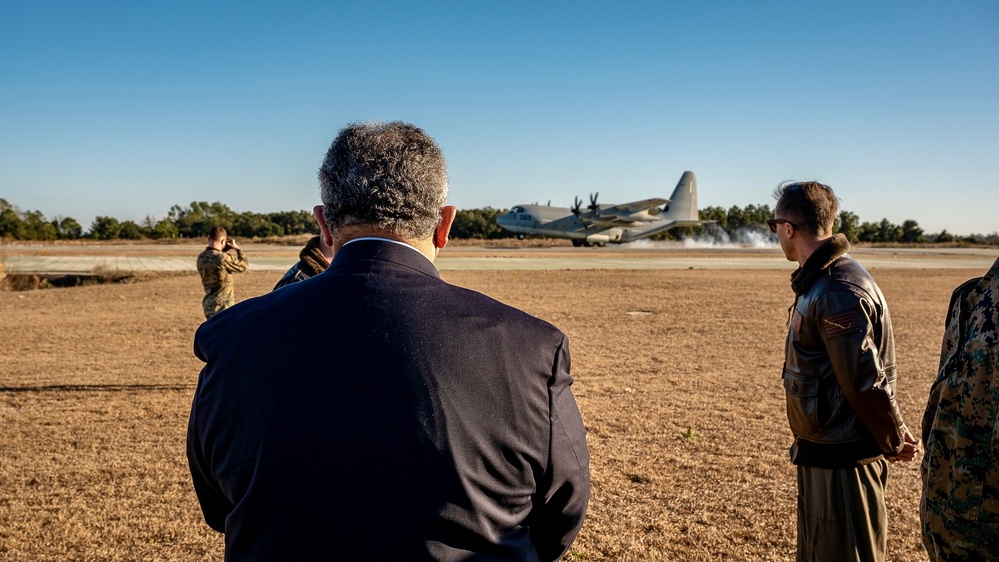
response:
M955 519L926 498L919 502L919 518L930 562L999 561L999 526Z

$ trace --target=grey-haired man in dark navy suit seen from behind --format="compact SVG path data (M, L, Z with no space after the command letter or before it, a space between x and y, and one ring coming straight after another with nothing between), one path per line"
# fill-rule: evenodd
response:
M195 336L188 459L226 559L559 558L589 500L565 335L439 278L456 211L420 129L350 125L319 179L329 268Z

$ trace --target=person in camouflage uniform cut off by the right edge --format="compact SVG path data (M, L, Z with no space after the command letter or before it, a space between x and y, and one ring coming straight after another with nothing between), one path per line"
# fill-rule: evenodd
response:
M923 544L930 560L999 560L999 259L951 296L923 414Z

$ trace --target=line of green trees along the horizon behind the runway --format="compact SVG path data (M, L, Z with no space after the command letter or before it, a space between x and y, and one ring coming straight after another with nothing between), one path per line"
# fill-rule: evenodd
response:
M496 224L496 218L505 210L485 207L458 211L451 228L451 237L457 239L495 240L512 238ZM701 227L675 228L653 237L657 240L679 240L691 236L704 236L724 232L735 238L740 232L754 231L769 234L767 219L773 217L769 205L733 205L706 207L700 211L701 220L715 221ZM46 218L40 211L22 211L0 198L0 239L12 240L143 240L204 238L213 226L223 226L233 237L269 238L296 234L318 234L319 227L311 211L280 211L274 213L237 213L219 202L192 201L186 207L174 205L167 216L155 219L147 216L136 223L119 221L114 217L99 216L87 230L72 217ZM999 235L971 234L955 236L946 230L927 234L914 220L894 224L888 219L879 222L861 222L850 211L841 211L834 224L835 232L842 232L852 243L964 243L999 244Z

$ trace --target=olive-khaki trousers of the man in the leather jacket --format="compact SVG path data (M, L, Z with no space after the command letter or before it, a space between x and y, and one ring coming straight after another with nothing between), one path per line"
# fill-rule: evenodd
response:
M857 468L798 466L798 562L884 562L884 459Z

